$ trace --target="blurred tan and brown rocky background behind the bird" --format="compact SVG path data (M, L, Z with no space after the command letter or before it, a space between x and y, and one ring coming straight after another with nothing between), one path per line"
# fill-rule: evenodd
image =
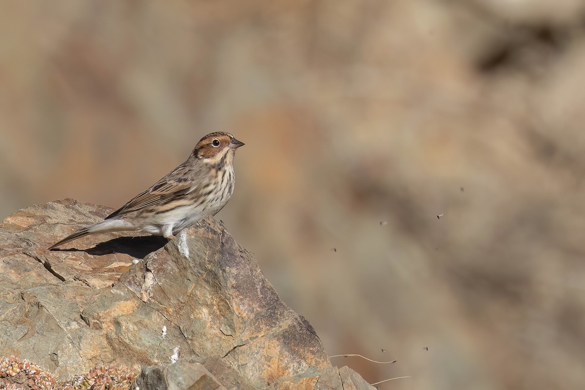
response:
M398 360L334 365L583 388L584 70L579 0L9 2L0 219L117 208L225 130L216 218L329 355Z

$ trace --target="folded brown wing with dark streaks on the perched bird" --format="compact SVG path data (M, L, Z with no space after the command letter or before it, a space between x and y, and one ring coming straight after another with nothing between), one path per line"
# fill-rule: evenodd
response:
M160 205L161 203L170 203L183 198L183 196L190 192L196 191L200 187L197 184L201 184L201 180L187 178L189 173L192 174L192 171L182 172L185 168L181 165L173 172L170 172L170 174L157 181L152 187L142 192L142 194L135 196L135 198L108 215L105 219L124 216L137 210Z

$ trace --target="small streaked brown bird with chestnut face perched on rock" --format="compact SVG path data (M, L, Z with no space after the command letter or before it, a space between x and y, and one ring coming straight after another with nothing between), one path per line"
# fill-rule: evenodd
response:
M49 249L94 233L142 232L173 239L175 234L215 215L233 194L233 158L244 143L232 134L207 134L187 161L104 220L77 230Z

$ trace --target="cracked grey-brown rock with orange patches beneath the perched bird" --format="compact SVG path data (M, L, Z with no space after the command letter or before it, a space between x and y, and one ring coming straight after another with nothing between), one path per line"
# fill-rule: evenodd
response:
M311 325L212 218L171 241L121 232L47 250L110 212L65 199L0 225L0 355L61 377L144 367L141 389L154 378L168 389L371 388L331 367Z

